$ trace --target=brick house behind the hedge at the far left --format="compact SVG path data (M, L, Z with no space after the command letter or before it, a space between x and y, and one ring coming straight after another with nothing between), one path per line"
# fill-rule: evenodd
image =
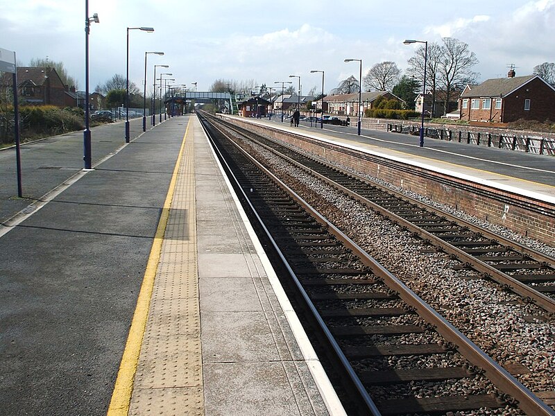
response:
M1 79L3 88L12 87L12 74L6 73ZM56 105L76 107L75 88L69 89L51 67L18 67L17 92L19 102L32 105Z

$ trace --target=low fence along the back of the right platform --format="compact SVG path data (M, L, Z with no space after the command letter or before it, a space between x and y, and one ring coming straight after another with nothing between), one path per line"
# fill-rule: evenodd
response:
M416 125L400 125L388 123L388 132L398 132L407 135L418 135L420 127ZM536 155L555 156L555 139L539 135L503 135L501 133L472 132L464 130L449 130L443 128L424 128L425 137L447 141L456 141L476 146L495 147L505 150L518 150Z

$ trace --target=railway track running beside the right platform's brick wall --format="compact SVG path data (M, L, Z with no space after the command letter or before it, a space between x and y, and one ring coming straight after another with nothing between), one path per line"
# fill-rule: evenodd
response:
M481 277L496 281L523 300L555 313L555 259L552 257L277 141L227 125L409 229L438 251L458 260L461 263L458 268L476 270Z

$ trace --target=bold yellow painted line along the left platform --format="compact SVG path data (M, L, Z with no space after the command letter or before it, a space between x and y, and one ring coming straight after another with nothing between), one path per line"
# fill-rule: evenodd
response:
M190 122L191 119L189 119L187 128L185 129L178 160L176 166L173 168L173 175L171 176L168 193L164 202L164 207L162 208L162 215L160 216L160 222L158 223L154 236L151 254L148 256L148 263L146 263L141 291L137 298L137 306L135 307L135 313L131 321L126 347L121 357L121 363L114 385L114 392L112 392L112 400L110 401L110 407L108 407L108 416L127 416L129 412L131 394L133 392L133 381L135 379L135 372L137 372L139 354L141 353L141 345L146 331L146 320L148 318L148 308L151 304L154 279L156 277L158 262L160 261L160 252L162 251L162 242L164 241L164 233L169 218L169 209L171 207L173 193L176 190L179 166L183 149L185 148L185 138L187 137L187 132L189 132Z

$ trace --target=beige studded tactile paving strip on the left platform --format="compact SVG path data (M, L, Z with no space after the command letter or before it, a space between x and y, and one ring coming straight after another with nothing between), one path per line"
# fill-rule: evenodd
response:
M129 415L203 415L194 140L185 138Z

